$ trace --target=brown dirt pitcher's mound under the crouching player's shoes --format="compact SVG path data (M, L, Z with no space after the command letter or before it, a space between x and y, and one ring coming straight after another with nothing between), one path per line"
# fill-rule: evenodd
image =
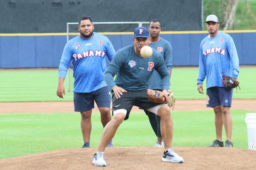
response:
M237 148L175 147L184 163L162 162L163 147L106 148L106 167L92 164L96 148L61 149L0 160L1 169L255 169L256 151Z

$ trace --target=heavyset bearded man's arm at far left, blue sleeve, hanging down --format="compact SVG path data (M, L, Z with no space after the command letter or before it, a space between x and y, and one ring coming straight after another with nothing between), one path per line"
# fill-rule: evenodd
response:
M66 77L66 74L68 72L69 63L72 59L72 51L68 47L68 44L65 45L62 57L60 59L60 65L59 65L59 81L58 81L58 88L57 88L57 96L60 98L63 98L65 95L65 88L64 88L64 80Z

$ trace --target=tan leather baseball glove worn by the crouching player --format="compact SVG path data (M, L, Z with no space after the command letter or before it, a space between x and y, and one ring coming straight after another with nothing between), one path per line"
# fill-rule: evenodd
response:
M147 90L148 100L155 103L166 103L168 101L168 96L166 92L160 92L158 90Z

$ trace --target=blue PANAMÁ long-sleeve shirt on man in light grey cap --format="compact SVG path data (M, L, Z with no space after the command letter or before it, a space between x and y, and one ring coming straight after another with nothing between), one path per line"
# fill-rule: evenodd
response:
M239 59L230 35L220 31L215 37L205 37L200 44L199 73L197 84L206 88L223 87L222 75L238 78Z

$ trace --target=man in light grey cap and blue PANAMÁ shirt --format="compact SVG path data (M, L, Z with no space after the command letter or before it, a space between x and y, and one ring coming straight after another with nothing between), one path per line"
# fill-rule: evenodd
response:
M237 81L239 60L236 46L230 35L219 31L218 17L209 15L206 18L206 29L209 35L200 44L199 73L197 79L198 92L203 92L203 81L206 79L206 106L213 107L215 113L216 140L208 147L233 147L231 142L233 89L223 86L222 76L230 76ZM222 142L222 126L226 131L225 145Z

